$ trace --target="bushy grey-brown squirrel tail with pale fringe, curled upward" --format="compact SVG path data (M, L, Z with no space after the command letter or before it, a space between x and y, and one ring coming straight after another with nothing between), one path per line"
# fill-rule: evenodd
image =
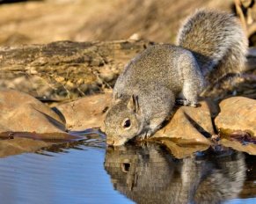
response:
M177 43L194 53L210 83L245 69L247 38L238 19L231 14L196 11L179 29Z

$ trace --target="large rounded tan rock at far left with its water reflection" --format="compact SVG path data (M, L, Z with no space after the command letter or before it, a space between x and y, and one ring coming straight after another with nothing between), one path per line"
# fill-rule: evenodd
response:
M0 157L84 139L65 129L64 120L36 98L19 91L0 91Z

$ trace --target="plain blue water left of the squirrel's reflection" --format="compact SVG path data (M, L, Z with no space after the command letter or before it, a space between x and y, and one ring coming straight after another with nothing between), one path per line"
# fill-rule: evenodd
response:
M1 203L133 203L113 190L103 166L105 149L83 149L1 158Z

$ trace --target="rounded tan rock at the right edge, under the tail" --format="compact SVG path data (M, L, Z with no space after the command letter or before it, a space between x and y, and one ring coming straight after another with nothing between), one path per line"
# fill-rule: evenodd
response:
M218 130L235 132L242 130L256 135L256 100L244 97L224 99L220 103L221 112L215 120Z

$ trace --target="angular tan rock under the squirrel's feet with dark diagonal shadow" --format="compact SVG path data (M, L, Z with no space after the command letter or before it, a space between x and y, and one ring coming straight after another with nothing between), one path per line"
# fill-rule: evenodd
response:
M172 120L160 129L153 138L177 138L191 142L209 144L206 137L214 134L211 114L206 101L199 107L180 106Z

